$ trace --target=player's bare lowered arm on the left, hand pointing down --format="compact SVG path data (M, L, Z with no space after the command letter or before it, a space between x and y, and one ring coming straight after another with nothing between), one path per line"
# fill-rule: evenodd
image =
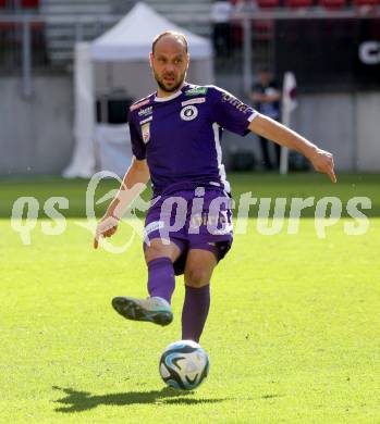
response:
M132 159L131 166L126 171L117 196L109 204L103 217L99 221L94 248L97 249L100 237L111 237L118 229L119 220L125 209L138 196L150 178L149 167L145 159Z

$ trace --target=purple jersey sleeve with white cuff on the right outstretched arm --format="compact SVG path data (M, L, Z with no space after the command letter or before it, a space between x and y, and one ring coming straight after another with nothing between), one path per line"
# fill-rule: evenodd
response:
M258 112L221 88L214 87L212 96L213 121L232 133L241 136L247 135L249 133L248 125L258 115Z

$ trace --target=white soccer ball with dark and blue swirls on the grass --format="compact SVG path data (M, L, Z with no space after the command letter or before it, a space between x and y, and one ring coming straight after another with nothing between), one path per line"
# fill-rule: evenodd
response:
M208 354L193 340L174 341L162 352L159 370L168 386L193 390L208 375Z

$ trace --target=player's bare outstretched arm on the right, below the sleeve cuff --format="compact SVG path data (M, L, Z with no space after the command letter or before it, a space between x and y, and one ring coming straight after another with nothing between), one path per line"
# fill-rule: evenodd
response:
M248 129L278 145L294 149L304 154L311 162L316 171L327 174L332 183L336 183L333 155L302 137L293 129L262 114L255 116L249 123Z

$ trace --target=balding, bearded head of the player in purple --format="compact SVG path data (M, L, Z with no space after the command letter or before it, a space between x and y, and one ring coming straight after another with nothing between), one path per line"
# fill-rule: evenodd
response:
M188 66L184 45L175 37L161 38L150 53L150 66L156 82L164 92L174 92L183 84Z

